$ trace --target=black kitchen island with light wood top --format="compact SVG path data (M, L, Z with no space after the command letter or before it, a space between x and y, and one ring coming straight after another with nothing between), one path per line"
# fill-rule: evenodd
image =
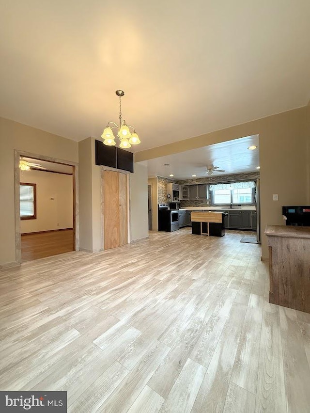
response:
M223 237L225 212L191 212L192 234Z

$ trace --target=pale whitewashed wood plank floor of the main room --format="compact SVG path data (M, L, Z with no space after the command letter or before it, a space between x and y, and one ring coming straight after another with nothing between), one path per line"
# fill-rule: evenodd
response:
M69 412L310 411L310 315L268 303L245 234L151 232L0 271L0 390Z

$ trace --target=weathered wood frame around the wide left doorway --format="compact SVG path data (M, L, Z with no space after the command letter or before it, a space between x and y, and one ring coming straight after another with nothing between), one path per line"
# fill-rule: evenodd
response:
M32 152L19 151L14 149L14 192L15 192L15 259L21 262L21 234L20 234L20 200L19 200L19 158L34 158L38 160L46 160L48 162L60 163L62 165L72 166L72 181L73 181L73 250L79 249L79 220L78 220L78 163L69 160L52 158L44 155L34 154Z

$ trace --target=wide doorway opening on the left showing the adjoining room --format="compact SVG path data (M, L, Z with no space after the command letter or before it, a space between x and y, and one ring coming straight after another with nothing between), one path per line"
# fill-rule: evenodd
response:
M78 250L77 169L15 151L16 261Z

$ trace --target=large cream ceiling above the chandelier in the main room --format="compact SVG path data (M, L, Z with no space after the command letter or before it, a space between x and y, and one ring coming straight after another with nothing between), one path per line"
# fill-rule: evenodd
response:
M305 106L309 0L1 1L0 116L140 151Z

